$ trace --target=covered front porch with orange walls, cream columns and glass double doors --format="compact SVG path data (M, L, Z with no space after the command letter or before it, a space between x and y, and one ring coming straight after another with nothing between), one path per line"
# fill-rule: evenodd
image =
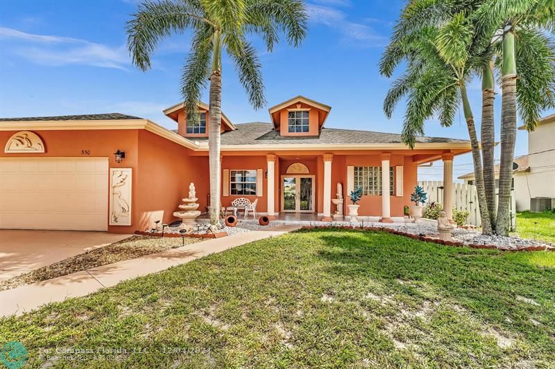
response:
M404 222L418 165L441 159L443 204L452 217L453 156L445 150L222 152L221 205L230 207L235 199L246 198L257 202L257 215L274 220L344 222L349 220L350 192L360 186L359 219ZM383 196L382 189L389 195ZM336 199L343 204L335 205Z

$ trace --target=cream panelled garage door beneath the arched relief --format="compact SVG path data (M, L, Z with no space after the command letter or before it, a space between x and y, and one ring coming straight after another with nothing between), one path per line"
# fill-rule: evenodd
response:
M0 228L108 230L108 158L0 158Z

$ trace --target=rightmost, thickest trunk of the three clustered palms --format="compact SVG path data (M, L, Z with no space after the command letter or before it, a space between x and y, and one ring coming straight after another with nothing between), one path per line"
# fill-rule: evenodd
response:
M511 182L516 141L515 35L511 25L503 35L502 91L497 234L508 235L511 227Z

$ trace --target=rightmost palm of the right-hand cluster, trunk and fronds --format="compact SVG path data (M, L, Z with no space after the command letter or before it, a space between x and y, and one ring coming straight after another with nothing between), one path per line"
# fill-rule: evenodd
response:
M552 37L546 35L554 30L555 1L486 0L477 9L476 19L477 32L497 35L494 40L497 39L502 53L501 158L496 229L499 235L508 235L517 103L529 130L536 127L543 109L555 105L555 48Z

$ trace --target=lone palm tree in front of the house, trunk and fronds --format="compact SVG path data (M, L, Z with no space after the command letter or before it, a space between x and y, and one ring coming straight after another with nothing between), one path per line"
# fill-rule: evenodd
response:
M185 110L198 123L200 94L210 80L209 138L210 222L219 221L220 125L222 53L234 63L250 104L266 104L261 65L248 34L264 39L268 51L284 33L287 42L299 46L307 33L307 12L301 0L161 0L144 1L128 21L128 50L142 71L151 68L157 44L172 33L191 31L189 57L181 78Z

